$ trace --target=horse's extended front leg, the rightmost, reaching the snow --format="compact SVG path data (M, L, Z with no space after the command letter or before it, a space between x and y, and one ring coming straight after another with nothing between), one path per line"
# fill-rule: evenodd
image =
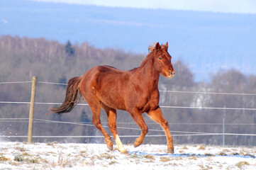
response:
M163 130L165 130L165 135L167 138L168 152L173 154L174 147L172 144L171 132L169 131L169 125L168 125L167 120L165 120L165 118L162 116L162 111L161 111L160 107L158 106L157 109L155 109L154 111L149 111L148 115L150 116L150 118L152 120L155 120L155 122L159 123Z

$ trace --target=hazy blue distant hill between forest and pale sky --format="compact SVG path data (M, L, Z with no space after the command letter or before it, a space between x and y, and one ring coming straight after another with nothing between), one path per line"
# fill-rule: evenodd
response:
M0 35L45 37L65 43L147 53L151 42L169 42L196 81L235 68L255 74L256 15L111 8L36 1L1 1Z

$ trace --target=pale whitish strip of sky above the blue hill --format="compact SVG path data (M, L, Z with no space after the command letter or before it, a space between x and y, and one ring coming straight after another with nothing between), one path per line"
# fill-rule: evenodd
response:
M96 6L165 8L221 13L256 13L255 0L32 0Z

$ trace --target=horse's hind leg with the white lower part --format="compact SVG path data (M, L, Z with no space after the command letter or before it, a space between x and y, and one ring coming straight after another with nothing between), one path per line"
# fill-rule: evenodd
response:
M106 115L108 116L108 128L111 131L114 140L116 141L118 150L123 154L127 154L126 149L124 149L123 144L116 131L116 109L109 108L104 104L102 104L102 108L104 109L104 111L106 112Z

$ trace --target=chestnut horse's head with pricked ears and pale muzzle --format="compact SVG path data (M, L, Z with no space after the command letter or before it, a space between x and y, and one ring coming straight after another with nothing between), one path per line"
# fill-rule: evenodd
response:
M157 69L164 77L174 77L174 69L172 67L172 56L167 52L168 42L166 45L160 45L159 42L155 44L155 47L149 48L150 52L153 52L153 61L155 69Z

